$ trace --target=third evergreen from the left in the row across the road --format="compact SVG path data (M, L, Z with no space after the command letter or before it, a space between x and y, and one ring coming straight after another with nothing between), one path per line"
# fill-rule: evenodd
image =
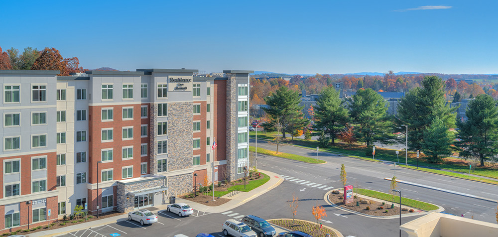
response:
M387 143L393 138L392 123L387 117L387 105L384 98L372 89L360 89L353 96L351 118L355 126L358 141L370 147L373 142Z

